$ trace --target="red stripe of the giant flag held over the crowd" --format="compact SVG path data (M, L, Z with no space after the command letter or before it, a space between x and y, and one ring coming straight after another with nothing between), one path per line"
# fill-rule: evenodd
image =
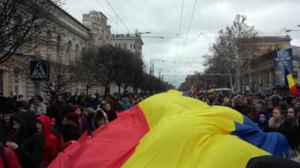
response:
M145 115L136 105L93 131L84 143L76 142L60 152L48 168L121 168L148 131Z

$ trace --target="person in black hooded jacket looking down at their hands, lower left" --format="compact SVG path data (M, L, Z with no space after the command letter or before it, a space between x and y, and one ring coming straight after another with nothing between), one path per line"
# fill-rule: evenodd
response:
M45 139L37 130L34 112L17 112L11 119L16 133L6 146L15 151L23 168L40 168Z

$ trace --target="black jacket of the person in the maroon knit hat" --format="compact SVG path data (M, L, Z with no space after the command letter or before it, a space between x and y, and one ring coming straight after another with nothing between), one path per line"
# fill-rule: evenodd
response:
M65 119L62 129L62 135L64 138L64 143L70 140L77 141L81 136L81 131L73 121Z

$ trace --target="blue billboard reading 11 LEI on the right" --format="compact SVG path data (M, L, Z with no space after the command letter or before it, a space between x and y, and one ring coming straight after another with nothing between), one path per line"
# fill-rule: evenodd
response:
M287 86L284 74L284 65L293 72L293 56L292 49L281 49L273 52L274 56L274 85L275 86Z

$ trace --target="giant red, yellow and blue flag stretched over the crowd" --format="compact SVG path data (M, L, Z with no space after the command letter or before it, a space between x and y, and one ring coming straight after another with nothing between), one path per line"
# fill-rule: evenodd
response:
M151 96L59 153L49 168L246 168L286 154L279 133L264 133L239 112L182 96Z

